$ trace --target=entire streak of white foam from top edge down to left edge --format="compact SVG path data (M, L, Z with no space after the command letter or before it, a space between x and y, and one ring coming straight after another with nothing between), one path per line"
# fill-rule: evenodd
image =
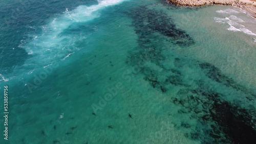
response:
M67 34L65 31L77 23L85 23L100 16L100 10L117 5L127 0L101 0L97 5L79 6L70 11L66 9L60 16L49 19L47 25L40 27L30 27L30 29L41 29L41 34L29 35L31 39L21 40L18 47L26 50L31 55L22 67L17 67L16 72L3 77L0 74L0 81L8 81L13 76L23 75L22 79L29 79L29 75L38 71L40 68L46 68L52 63L66 60L70 55L82 49L76 47L75 43L88 38L84 32L78 33L76 36ZM97 28L95 28L96 30ZM33 70L31 70L33 69ZM7 78L6 78L7 77ZM19 77L20 78L20 77Z

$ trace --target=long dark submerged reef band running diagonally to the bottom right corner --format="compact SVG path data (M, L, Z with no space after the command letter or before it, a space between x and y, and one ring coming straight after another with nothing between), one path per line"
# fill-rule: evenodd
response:
M180 107L177 113L186 113L190 120L198 121L199 125L190 125L188 120L181 119L176 127L187 129L186 137L202 143L256 141L255 108L225 100L226 95L212 88L212 84L240 91L247 95L248 101L254 100L253 92L225 76L216 66L178 54L177 48L189 49L195 40L180 30L171 16L147 7L126 14L131 17L138 36L138 46L129 53L126 63L137 66L152 88L164 93L170 104ZM184 69L195 69L202 78L187 76ZM193 83L187 83L188 80ZM174 87L179 91L169 93ZM176 96L169 98L169 95Z

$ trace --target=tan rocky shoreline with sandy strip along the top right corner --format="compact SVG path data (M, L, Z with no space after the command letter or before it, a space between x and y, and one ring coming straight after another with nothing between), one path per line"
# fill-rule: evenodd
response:
M203 6L203 5L228 5L242 8L249 15L256 18L256 1L255 0L166 0L177 6ZM254 2L253 2L254 1Z

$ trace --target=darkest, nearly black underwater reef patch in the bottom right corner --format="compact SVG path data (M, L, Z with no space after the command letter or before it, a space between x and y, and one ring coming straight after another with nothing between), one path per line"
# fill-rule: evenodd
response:
M216 113L211 112L212 119L234 143L253 143L256 141L256 130L251 124L250 115L244 109L233 107L227 102L214 103Z

